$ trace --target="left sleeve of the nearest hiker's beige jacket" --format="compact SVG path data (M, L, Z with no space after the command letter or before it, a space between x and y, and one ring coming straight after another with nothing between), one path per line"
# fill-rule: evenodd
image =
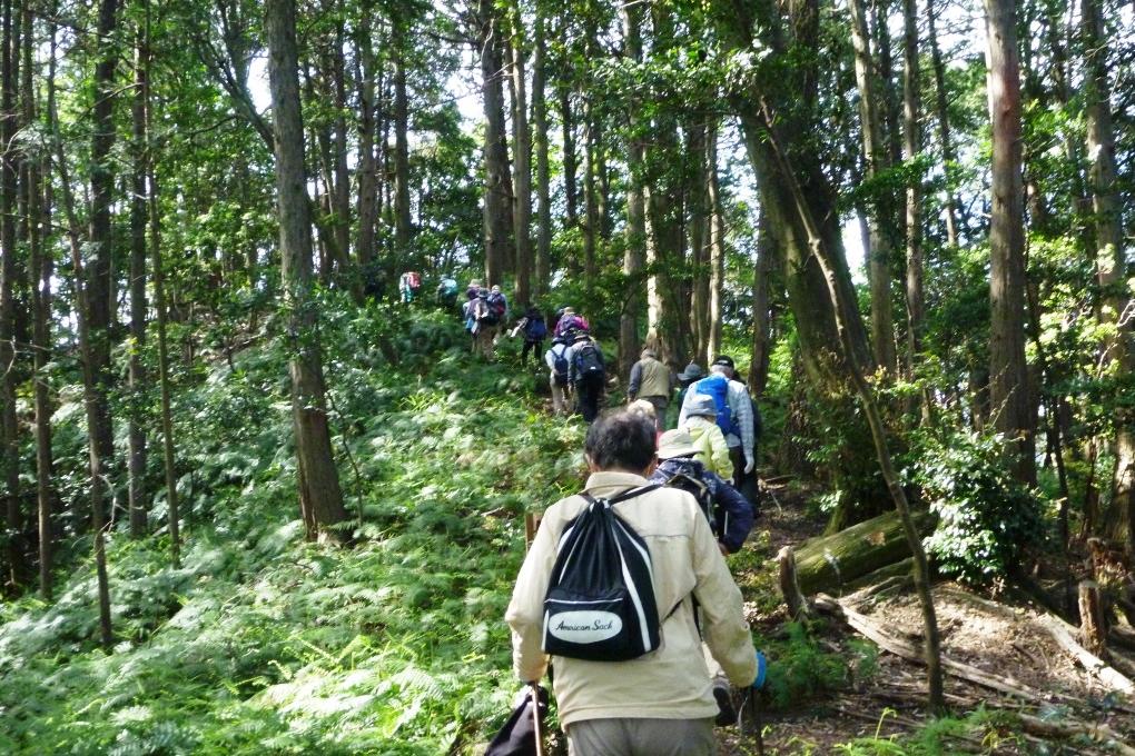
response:
M548 666L541 637L544 596L548 592L548 579L556 559L556 535L553 530L558 533L561 529L552 527L553 521L560 518L548 517L550 513L549 509L536 532L504 615L512 628L512 668L522 682L539 680Z

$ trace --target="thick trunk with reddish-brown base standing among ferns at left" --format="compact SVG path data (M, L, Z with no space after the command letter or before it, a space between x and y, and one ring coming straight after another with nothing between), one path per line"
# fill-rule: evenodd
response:
M334 526L347 519L331 456L322 355L311 299L311 206L303 162L303 116L295 41L295 0L267 0L264 39L272 96L276 192L280 226L284 301L293 334L292 411L299 467L300 508L309 537L344 541Z

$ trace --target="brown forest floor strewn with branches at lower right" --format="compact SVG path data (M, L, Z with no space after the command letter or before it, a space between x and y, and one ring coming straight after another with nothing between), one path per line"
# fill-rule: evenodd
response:
M750 623L758 637L783 638L788 620L783 604L767 604L775 560L782 545L799 544L818 535L823 520L807 513L805 496L789 489L766 495L762 517L747 547L765 559L737 570L748 603ZM903 640L919 642L922 614L909 589L881 592L846 605L865 614ZM1109 695L1092 676L1032 621L1027 608L994 603L968 593L955 583L934 587L934 603L942 635L942 653L1002 681L1035 694L1023 700L957 677L947 677L949 716L926 716L925 670L885 651L864 660L861 637L842 622L812 626L819 646L848 669L847 685L816 696L781 702L763 715L764 753L788 754L1104 754L1115 745L1085 738L1045 741L1023 733L1006 714L1025 713L1041 720L1107 725L1135 742L1135 708ZM874 653L874 652L873 652ZM771 655L770 664L777 659ZM852 668L858 668L852 670ZM767 703L766 703L767 707ZM753 734L718 730L722 754L756 754ZM1120 749L1121 750L1121 749Z

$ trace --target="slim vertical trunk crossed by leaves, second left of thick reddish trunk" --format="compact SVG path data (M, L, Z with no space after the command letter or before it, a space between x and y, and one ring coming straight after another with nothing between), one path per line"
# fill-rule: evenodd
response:
M902 0L902 158L913 164L922 150L919 129L918 1ZM907 373L915 376L925 328L922 254L922 177L907 186ZM930 394L922 397L923 419L930 419Z

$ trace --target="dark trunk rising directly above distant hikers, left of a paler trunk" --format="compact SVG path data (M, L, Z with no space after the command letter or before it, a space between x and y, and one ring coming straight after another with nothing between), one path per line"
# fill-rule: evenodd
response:
M507 187L508 152L505 145L504 74L501 70L501 25L493 0L478 0L481 80L485 99L485 278L503 282L508 258L512 197Z

